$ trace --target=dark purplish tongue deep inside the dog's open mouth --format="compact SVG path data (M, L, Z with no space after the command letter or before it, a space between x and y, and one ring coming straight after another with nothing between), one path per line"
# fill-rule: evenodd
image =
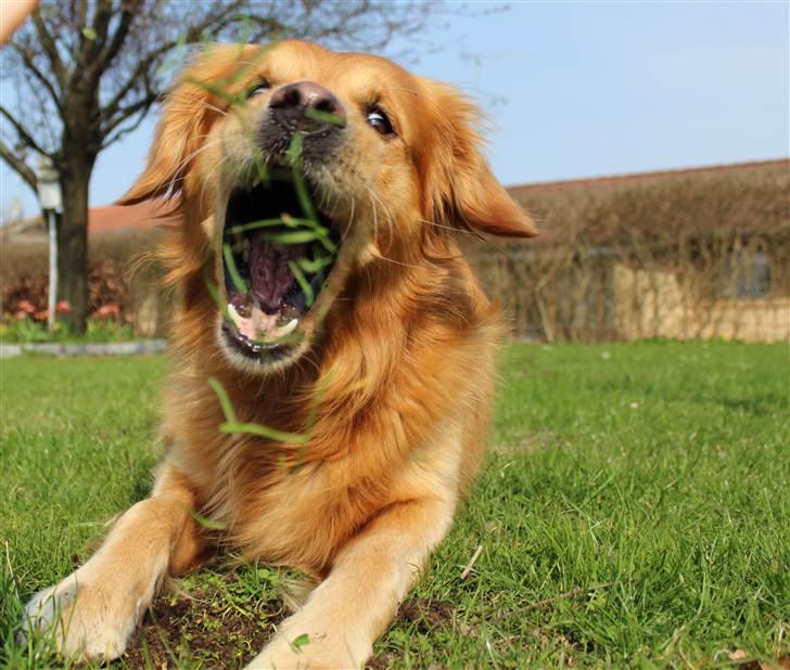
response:
M275 246L263 236L250 245L250 283L264 310L276 310L294 282L290 261L304 258L305 244Z

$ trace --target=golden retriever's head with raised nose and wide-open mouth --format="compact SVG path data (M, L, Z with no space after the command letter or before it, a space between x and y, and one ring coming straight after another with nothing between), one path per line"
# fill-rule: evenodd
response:
M447 229L535 234L481 156L475 121L455 90L381 57L214 47L165 102L122 202L180 199L189 244L214 259L220 347L237 368L277 370L377 259L419 263Z

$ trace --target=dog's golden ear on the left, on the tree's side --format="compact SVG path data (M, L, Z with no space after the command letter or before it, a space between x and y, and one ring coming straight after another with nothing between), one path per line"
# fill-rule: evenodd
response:
M212 44L180 75L167 94L162 119L149 152L148 163L135 184L117 202L133 205L153 197L174 197L184 189L184 179L205 140L211 124L226 106L222 95L239 88L237 75L254 47ZM244 57L242 57L244 56ZM229 85L221 90L222 80Z

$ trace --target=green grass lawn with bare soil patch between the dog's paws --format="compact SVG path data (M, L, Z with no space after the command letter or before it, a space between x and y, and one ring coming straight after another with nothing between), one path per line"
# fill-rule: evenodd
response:
M46 668L41 644L15 646L22 603L145 495L167 364L1 365L0 666ZM372 667L790 654L787 345L513 345L501 373L484 474ZM158 601L113 667L238 667L282 616L289 579L203 570Z

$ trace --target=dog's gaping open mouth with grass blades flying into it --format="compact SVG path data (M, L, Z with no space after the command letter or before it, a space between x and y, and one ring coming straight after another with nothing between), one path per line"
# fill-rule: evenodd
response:
M243 356L279 359L304 338L302 320L337 255L337 228L293 175L232 192L222 233L228 298L222 332Z

